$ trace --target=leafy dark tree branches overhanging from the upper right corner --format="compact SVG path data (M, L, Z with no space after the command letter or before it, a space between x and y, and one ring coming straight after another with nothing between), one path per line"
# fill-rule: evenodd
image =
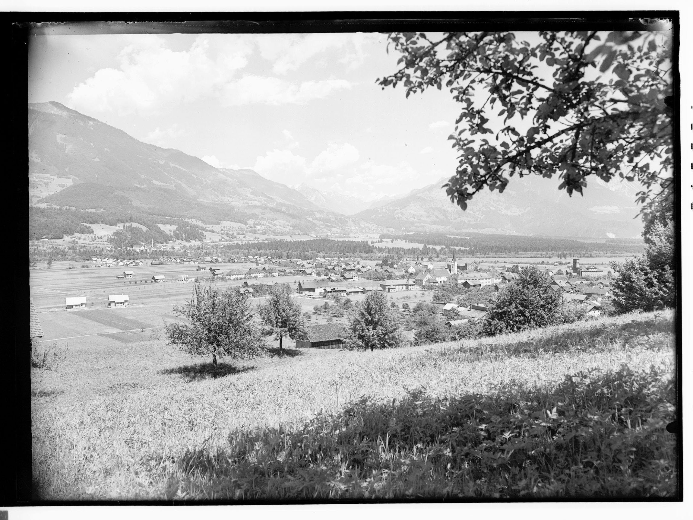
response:
M638 180L644 213L674 195L671 25L649 31L391 33L400 68L378 79L407 97L450 89L461 105L449 139L457 173L444 185L466 209L509 177Z

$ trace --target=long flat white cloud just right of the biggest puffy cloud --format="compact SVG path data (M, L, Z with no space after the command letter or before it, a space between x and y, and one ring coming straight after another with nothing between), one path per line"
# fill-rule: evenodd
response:
M337 79L298 83L265 76L244 76L223 87L222 105L300 105L313 99L324 98L336 90L350 89L351 85L347 80Z

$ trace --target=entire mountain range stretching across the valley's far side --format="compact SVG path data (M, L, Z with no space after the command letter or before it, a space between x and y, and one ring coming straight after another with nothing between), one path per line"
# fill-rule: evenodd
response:
M405 229L630 238L642 231L627 183L590 180L585 197L569 198L556 180L514 178L502 195L484 191L462 211L441 189L443 178L369 203L305 184L292 189L249 169L215 168L60 103L33 103L28 110L30 204L252 220L277 234Z

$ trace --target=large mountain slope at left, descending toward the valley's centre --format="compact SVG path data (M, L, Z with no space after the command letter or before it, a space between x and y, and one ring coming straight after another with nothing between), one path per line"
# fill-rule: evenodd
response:
M272 220L288 232L352 226L252 170L146 144L60 103L29 105L30 202L202 220ZM361 225L362 223L356 223Z

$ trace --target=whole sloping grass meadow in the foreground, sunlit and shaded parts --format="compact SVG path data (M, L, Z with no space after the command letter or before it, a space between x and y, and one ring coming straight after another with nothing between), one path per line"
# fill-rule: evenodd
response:
M35 494L674 496L663 428L674 417L673 320L632 314L381 352L288 349L216 369L155 334L70 348L55 370L33 371Z

